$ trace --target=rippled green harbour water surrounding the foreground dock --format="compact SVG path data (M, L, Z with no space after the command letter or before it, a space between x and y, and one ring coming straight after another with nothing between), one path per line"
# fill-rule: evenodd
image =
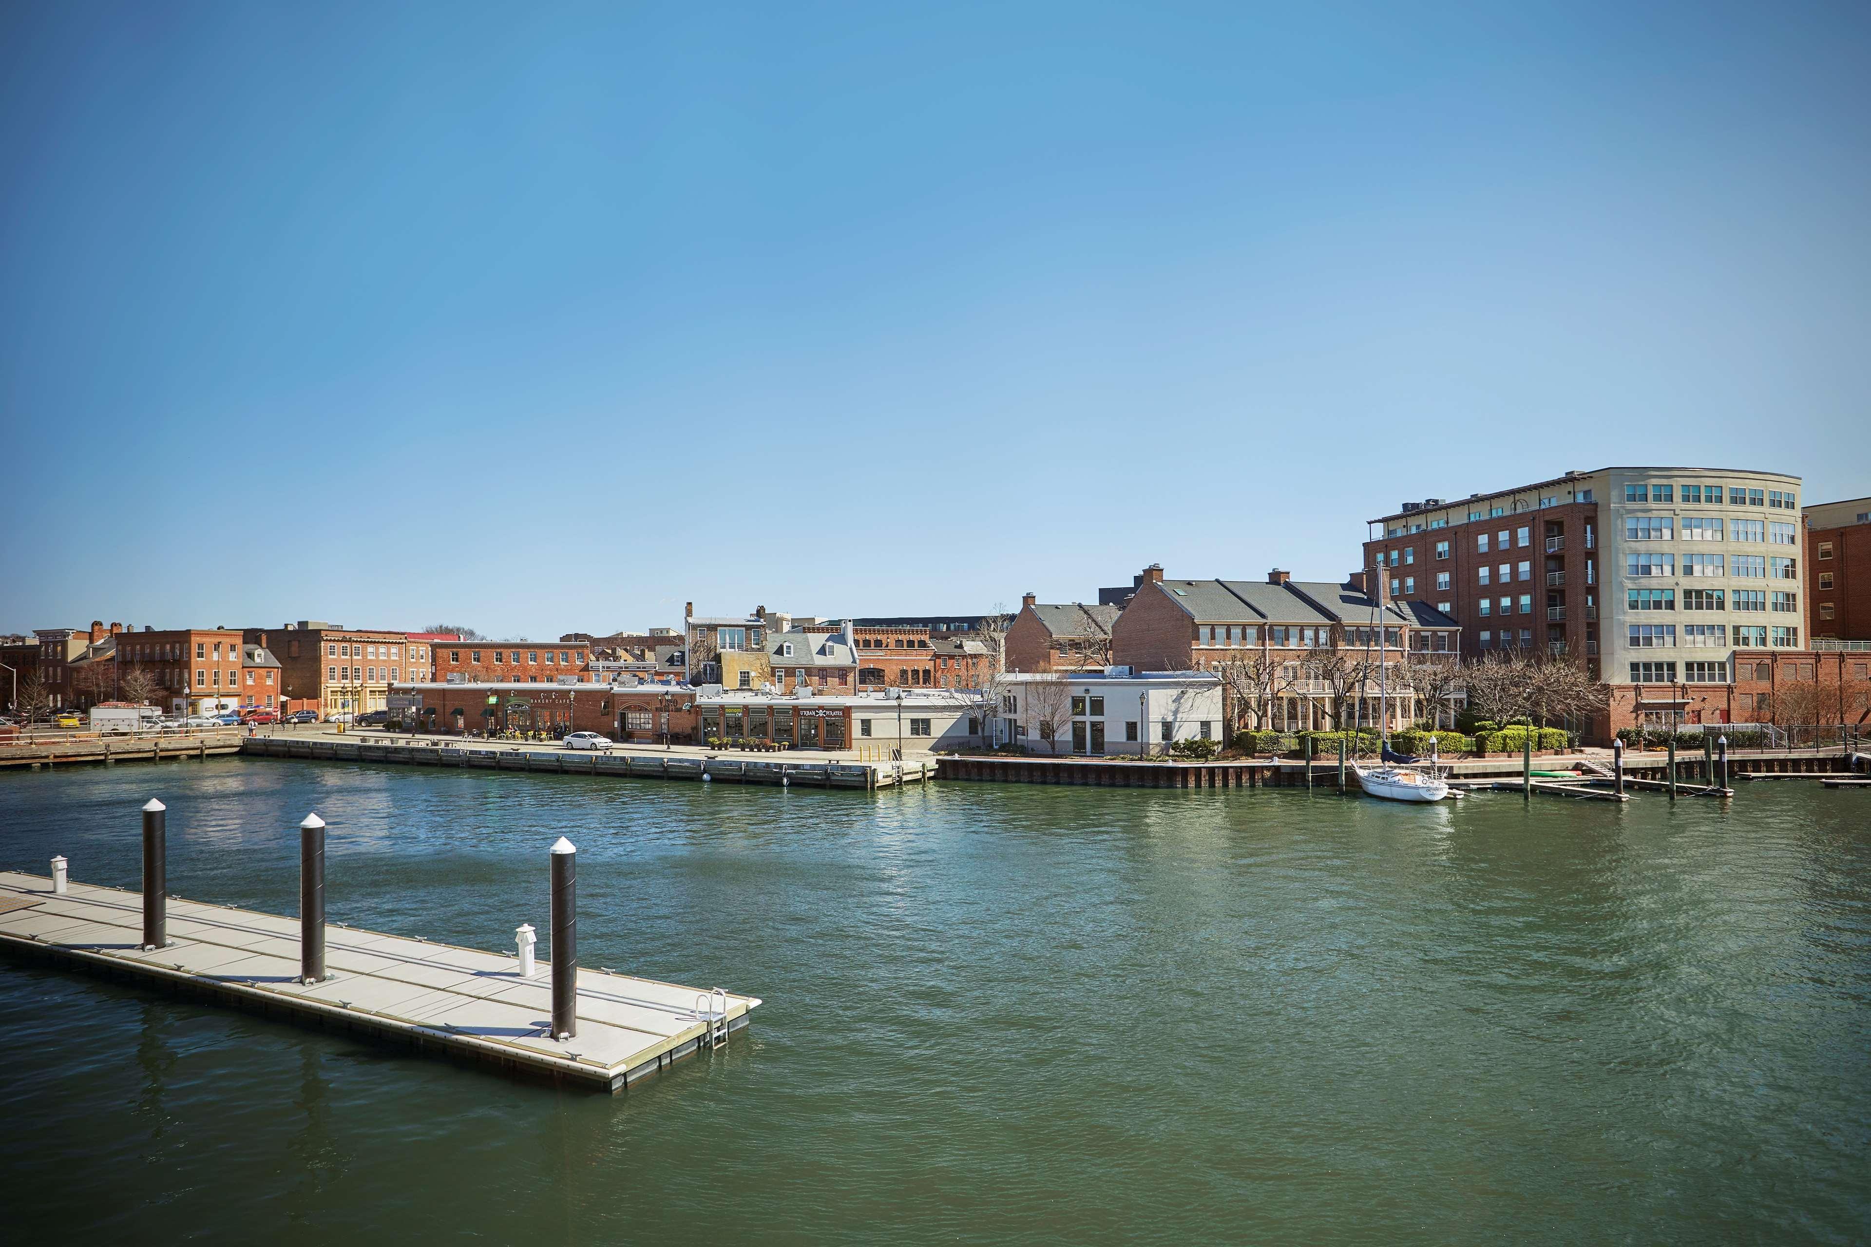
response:
M284 761L0 778L0 864L765 996L619 1097L0 959L7 1241L1865 1241L1871 793L1723 808ZM546 950L541 948L544 953Z

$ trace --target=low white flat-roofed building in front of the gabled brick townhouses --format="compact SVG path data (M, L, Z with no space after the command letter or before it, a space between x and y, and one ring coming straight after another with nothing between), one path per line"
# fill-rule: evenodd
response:
M1035 671L995 686L995 744L1037 753L1168 753L1177 740L1220 740L1222 681L1203 671Z

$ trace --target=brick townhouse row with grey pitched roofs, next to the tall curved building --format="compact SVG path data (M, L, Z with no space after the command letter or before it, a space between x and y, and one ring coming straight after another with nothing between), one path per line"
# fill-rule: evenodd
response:
M1229 720L1282 731L1332 727L1334 690L1317 671L1332 651L1358 651L1373 662L1385 649L1396 651L1392 662L1401 662L1405 649L1459 660L1461 630L1454 619L1422 602L1379 608L1381 591L1371 595L1366 583L1358 572L1343 583L1328 583L1297 581L1278 568L1265 583L1151 578L1111 628L1111 664L1141 673L1280 660L1280 695L1269 707L1270 722L1263 724L1255 707L1235 705L1229 705ZM1375 724L1383 701L1375 682L1349 692L1347 716ZM1394 684L1388 712L1390 725L1403 727L1416 718L1414 699Z

